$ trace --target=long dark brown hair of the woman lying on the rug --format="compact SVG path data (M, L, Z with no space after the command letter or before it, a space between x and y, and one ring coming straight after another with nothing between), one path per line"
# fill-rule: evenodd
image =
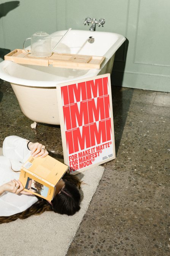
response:
M79 211L80 193L78 188L81 186L81 181L78 177L65 173L63 177L65 181L64 188L59 194L52 199L50 204L47 200L38 198L38 201L30 206L27 210L19 212L11 216L0 217L0 224L8 223L17 219L27 219L31 215L40 215L45 211L54 211L60 214L73 215Z

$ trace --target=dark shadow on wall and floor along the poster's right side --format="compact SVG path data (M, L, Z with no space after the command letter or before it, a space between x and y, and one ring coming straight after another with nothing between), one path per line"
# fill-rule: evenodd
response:
M115 61L113 64L113 71L111 73L111 91L112 91L112 104L113 104L113 118L114 118L114 136L115 136L115 150L116 156L118 153L119 145L122 138L122 133L127 119L127 112L132 98L133 90L122 87L124 70L126 65L126 57L129 41L126 39L124 44L116 52ZM122 55L122 60L120 56ZM128 100L126 94L128 91Z

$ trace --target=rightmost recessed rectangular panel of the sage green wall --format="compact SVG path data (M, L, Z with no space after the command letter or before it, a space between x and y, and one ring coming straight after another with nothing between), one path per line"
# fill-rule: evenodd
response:
M170 66L169 16L170 1L139 1L134 63Z

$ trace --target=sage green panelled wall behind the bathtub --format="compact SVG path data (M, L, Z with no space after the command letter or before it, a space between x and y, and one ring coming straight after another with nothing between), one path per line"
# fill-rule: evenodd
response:
M127 38L116 53L112 84L170 92L169 10L169 0L0 0L0 53L22 48L33 32L87 30L87 16L105 18L97 31Z

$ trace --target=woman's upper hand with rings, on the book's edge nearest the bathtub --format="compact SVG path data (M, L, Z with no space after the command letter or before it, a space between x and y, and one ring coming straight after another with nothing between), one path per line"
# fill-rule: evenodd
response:
M32 143L30 142L28 144L28 147L31 151L31 156L33 157L45 157L48 155L48 151L45 149L45 146L36 142L36 143Z

